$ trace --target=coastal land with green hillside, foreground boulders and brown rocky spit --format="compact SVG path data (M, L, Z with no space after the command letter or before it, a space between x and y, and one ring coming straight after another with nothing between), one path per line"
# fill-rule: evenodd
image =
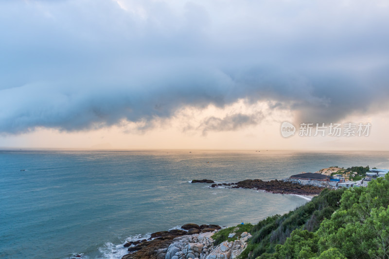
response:
M377 178L367 187L329 190L324 186L320 181L301 184L293 178L213 183L210 188L319 194L293 211L267 217L255 225L220 228L185 224L173 233L156 232L153 240L130 244L130 254L123 259L388 258L389 176Z

